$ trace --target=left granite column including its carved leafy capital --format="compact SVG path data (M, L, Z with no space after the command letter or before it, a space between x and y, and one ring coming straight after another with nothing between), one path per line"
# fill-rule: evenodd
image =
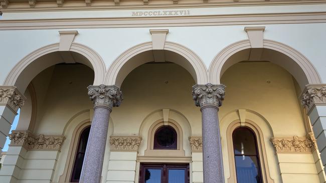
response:
M99 183L101 180L109 116L113 106L119 106L122 93L119 87L111 85L90 85L88 95L94 103L94 117L84 157L81 183Z

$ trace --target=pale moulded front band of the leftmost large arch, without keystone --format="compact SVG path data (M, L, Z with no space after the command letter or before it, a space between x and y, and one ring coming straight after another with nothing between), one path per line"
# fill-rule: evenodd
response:
M91 66L94 70L94 82L93 84L101 84L104 80L105 75L105 64L100 55L93 49L89 48L86 45L73 42L71 44L71 47L69 49L70 51L77 52L83 56L85 56L88 61L90 62ZM33 61L40 58L41 56L44 56L46 54L59 51L59 43L50 44L44 47L41 47L27 56L25 56L23 59L21 59L14 68L9 72L7 75L7 78L4 82L4 85L15 85L17 83L18 77L20 74L24 71L24 69L30 65ZM49 63L49 66L51 66L51 63ZM88 65L90 66L90 65ZM20 88L22 90L25 90L25 88Z

